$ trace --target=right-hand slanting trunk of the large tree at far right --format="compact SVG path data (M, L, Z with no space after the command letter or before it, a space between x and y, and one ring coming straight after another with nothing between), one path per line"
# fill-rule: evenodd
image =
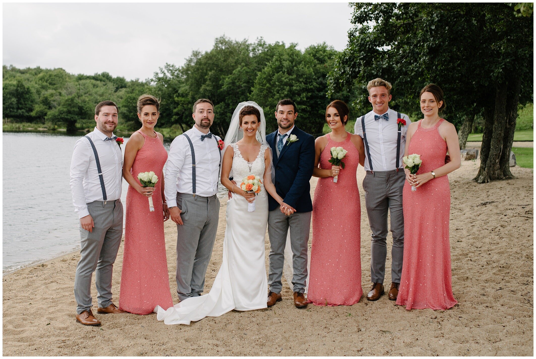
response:
M508 84L508 98L506 102L506 125L504 128L503 151L499 167L504 178L515 178L510 171L510 151L512 150L513 134L516 131L517 106L519 92L521 91L521 78L516 78Z

